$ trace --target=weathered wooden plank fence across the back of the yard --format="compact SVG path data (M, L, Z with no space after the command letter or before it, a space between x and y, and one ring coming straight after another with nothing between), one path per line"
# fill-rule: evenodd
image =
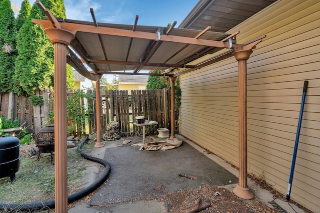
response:
M79 105L85 109L92 109L87 114L87 118L81 119L81 124L75 124L68 121L68 126L75 126L74 131L70 134L83 135L96 132L96 102L95 91L87 90L91 98L81 98L78 100ZM45 126L50 120L50 111L53 111L53 92L41 90L35 93L43 99L43 105L32 106L28 97L23 97L14 93L0 93L0 114L5 118L14 120L19 119L21 124L27 128L33 136ZM67 98L74 95L74 91L67 92ZM105 100L107 108L102 109L100 105L101 130L104 132L106 126L111 121L117 121L120 124L122 133L141 132L140 127L132 125L135 116L144 116L146 120L157 121L158 125L150 126L146 131L153 135L156 129L166 127L170 129L170 91L168 89L158 90L131 90L115 91L109 90L100 94L100 104ZM109 107L108 107L109 105ZM82 108L83 108L82 107ZM81 108L77 107L77 110ZM75 112L81 115L82 112ZM83 113L82 113L83 114Z

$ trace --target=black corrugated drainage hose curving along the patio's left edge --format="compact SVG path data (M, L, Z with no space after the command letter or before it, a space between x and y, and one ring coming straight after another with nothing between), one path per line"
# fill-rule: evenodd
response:
M105 182L105 180L108 178L110 174L110 164L107 161L104 161L103 159L100 159L100 158L89 156L82 152L81 148L87 139L88 139L88 136L86 136L84 140L79 144L77 151L81 154L81 156L84 159L103 165L105 167L105 172L98 180L96 180L93 184L91 184L87 188L69 195L68 204L71 204L74 201L77 201L83 198L84 196L87 196L90 193L92 193L94 190L96 190L99 186L101 186ZM15 211L35 212L35 211L42 210L43 208L54 209L54 206L55 206L55 200L44 201L39 203L30 203L30 204L0 204L0 211L5 211L7 213L15 212Z

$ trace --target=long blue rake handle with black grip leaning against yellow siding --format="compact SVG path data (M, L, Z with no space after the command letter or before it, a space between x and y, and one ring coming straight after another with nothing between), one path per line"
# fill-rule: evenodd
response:
M289 202L290 201L290 193L291 193L291 186L292 186L292 179L293 179L293 172L294 172L294 165L295 165L295 159L296 159L296 152L298 149L298 143L299 143L299 136L300 136L300 129L301 129L301 121L302 121L302 114L303 114L303 107L304 107L304 100L305 100L305 94L306 94L306 88L308 86L308 81L304 81L303 84L303 92L302 92L302 100L301 100L301 107L300 107L300 115L299 115L299 121L298 121L298 127L296 130L296 136L295 136L295 144L293 149L293 156L292 156L292 164L291 164L291 171L290 171L290 178L288 183L288 190L286 193L285 199Z

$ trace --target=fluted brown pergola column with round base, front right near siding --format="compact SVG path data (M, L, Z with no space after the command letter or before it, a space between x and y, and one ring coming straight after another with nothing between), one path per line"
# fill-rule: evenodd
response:
M254 197L247 187L247 124L246 124L246 60L252 50L239 50L233 53L238 61L238 92L239 92L239 183L233 193L242 199L250 200Z

